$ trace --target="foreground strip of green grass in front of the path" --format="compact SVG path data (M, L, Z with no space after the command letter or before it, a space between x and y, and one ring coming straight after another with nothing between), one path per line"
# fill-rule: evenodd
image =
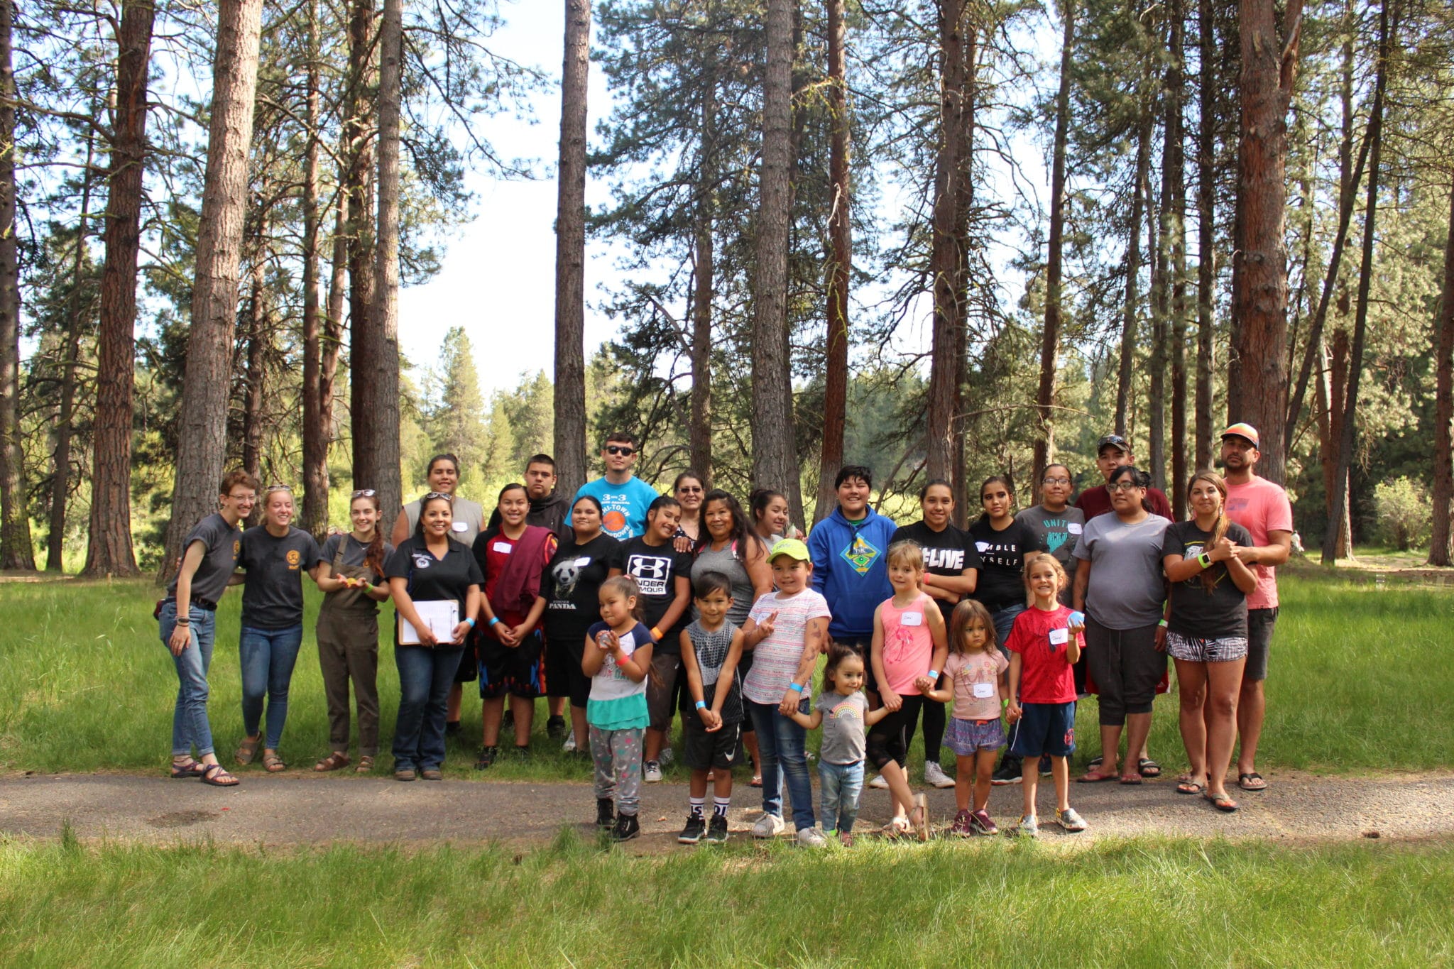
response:
M0 841L0 965L1439 965L1454 848Z

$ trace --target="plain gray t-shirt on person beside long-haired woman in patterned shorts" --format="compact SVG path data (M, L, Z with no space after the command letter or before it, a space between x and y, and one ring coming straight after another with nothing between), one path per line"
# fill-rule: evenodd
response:
M1166 601L1162 536L1170 522L1147 514L1127 524L1115 513L1086 522L1075 558L1090 562L1086 612L1108 629L1154 626Z

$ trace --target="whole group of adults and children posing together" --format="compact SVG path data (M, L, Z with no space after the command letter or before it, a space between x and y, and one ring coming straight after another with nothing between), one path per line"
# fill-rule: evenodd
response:
M1285 492L1255 474L1256 429L1224 431L1226 477L1192 477L1185 522L1172 522L1166 495L1117 434L1098 442L1104 485L1072 503L1069 469L1050 465L1040 501L1016 514L1011 481L996 475L980 487L983 514L967 530L952 523L947 481L928 482L920 520L900 527L871 507L872 472L845 466L832 514L803 536L782 494L755 491L744 510L691 471L657 494L634 477L637 455L630 434L611 434L605 477L570 503L555 494L554 461L537 455L489 519L455 494L458 462L439 455L429 492L398 511L390 539L365 488L350 495L352 530L321 548L292 527L286 485L262 490L262 524L240 532L259 487L243 472L224 477L218 511L188 536L157 609L179 678L172 777L238 783L217 758L206 718L215 609L230 584L244 585L236 760L286 769L279 751L307 572L324 593L316 638L332 745L314 770L374 770L377 616L391 600L394 777L442 779L464 683L477 681L481 699L478 770L500 757L509 723L510 755L529 757L535 700L545 696L547 735L589 751L598 824L616 840L640 831L641 784L662 779L676 710L691 771L682 843L727 838L733 769L744 758L762 789L755 837L785 830L787 796L800 844L851 843L872 763L871 784L887 787L893 805L884 832L926 838L926 800L906 770L920 721L925 783L955 787L954 834L996 832L989 798L1006 783L1022 784L1015 832L1035 834L1045 774L1056 822L1082 831L1069 799L1076 702L1099 696L1101 755L1079 782L1159 776L1146 739L1168 654L1189 763L1176 790L1236 811L1226 776L1239 738L1239 787L1265 789L1255 760L1262 681L1274 569L1288 556L1293 523ZM814 729L817 814L806 744ZM952 779L944 747L955 755Z

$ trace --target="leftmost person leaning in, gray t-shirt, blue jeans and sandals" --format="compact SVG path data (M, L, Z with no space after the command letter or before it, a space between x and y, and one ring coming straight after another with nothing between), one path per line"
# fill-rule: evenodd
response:
M182 565L157 609L161 642L172 651L179 683L172 715L172 776L201 777L202 783L215 787L233 787L237 777L222 770L212 750L206 671L212 665L217 601L227 591L241 551L237 523L247 517L256 500L257 482L247 472L233 471L222 478L218 510L188 533Z

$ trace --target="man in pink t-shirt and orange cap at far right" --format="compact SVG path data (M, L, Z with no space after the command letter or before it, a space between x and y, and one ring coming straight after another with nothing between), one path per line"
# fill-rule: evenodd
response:
M1266 780L1256 770L1258 739L1266 697L1262 683L1268 677L1268 645L1277 626L1277 567L1293 552L1293 506L1287 491L1252 474L1261 452L1258 429L1233 424L1221 431L1221 463L1227 471L1227 517L1252 533L1252 548L1239 548L1237 558L1252 567L1258 587L1248 596L1248 664L1242 671L1237 697L1237 786L1265 790Z

